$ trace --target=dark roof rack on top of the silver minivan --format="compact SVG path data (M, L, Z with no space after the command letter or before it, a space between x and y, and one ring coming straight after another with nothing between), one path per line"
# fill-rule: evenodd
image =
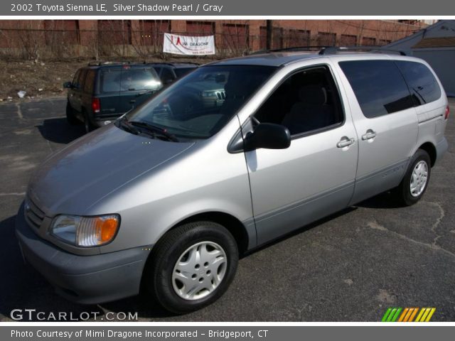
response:
M286 51L314 51L318 52L319 55L335 55L336 53L343 52L375 52L375 53L387 53L393 52L400 55L406 55L402 50L391 50L388 48L382 48L382 46L321 46L321 45L310 45L310 46L294 46L292 48L276 48L272 50L259 50L253 52L252 55L258 55L261 53L274 53L274 52L286 52Z

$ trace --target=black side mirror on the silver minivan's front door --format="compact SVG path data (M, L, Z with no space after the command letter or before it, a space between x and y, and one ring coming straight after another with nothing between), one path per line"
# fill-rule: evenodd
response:
M245 138L245 151L257 148L286 149L291 146L291 133L281 124L260 123Z

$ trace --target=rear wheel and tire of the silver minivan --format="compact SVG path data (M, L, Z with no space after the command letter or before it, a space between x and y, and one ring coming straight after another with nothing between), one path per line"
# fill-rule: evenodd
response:
M418 149L411 158L405 177L393 191L395 199L400 205L410 206L420 200L427 190L431 170L431 160L428 153L423 149ZM412 184L415 190L411 189Z

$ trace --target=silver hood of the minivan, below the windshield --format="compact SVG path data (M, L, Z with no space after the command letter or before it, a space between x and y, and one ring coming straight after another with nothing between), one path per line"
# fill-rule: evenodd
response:
M47 158L32 175L27 193L48 216L86 215L105 195L191 146L137 136L110 124Z

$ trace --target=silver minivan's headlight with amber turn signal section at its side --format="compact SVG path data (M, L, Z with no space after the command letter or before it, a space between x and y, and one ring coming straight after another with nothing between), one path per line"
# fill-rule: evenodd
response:
M97 247L114 239L119 222L119 215L58 215L50 224L50 233L77 247Z

